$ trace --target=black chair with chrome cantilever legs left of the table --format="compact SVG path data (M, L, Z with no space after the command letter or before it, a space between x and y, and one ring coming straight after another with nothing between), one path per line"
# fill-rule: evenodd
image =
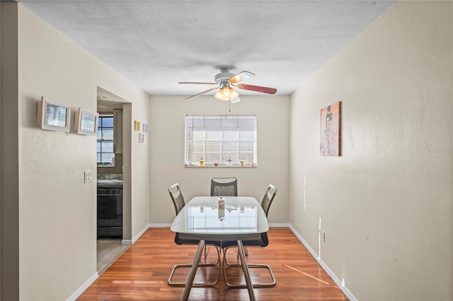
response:
M173 201L173 206L175 206L175 211L176 215L183 209L185 206L185 200L183 193L180 190L179 184L173 184L171 187L168 187L168 192L170 193L171 200ZM175 243L179 245L183 244L191 244L191 245L198 245L200 243L200 240L183 240L180 239L179 233L175 234ZM219 241L206 241L205 242L205 248L206 246L214 246L215 249L217 250L217 261L216 262L210 262L210 263L202 263L199 264L198 266L217 266L217 264L220 263L220 245L221 242ZM207 258L207 251L205 250L205 259ZM173 266L173 269L171 270L170 277L168 277L168 284L169 285L185 285L185 282L172 282L171 278L173 278L173 274L175 273L177 268L191 268L192 264L176 264ZM193 286L212 286L215 285L219 281L219 276L220 276L220 264L219 268L217 271L217 278L214 282L210 283L193 283Z

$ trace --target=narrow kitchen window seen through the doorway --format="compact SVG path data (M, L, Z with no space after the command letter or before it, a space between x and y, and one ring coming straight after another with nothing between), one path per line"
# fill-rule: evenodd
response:
M113 115L101 115L98 121L98 166L113 166Z

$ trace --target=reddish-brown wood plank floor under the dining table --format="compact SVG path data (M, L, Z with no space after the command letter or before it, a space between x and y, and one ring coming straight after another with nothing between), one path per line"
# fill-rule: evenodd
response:
M270 228L269 245L248 248L249 264L268 264L277 284L272 288L255 288L256 300L348 300L323 268L299 242L289 228ZM175 264L191 263L196 246L179 246L173 242L169 228L149 228L127 249L80 297L79 300L180 300L183 287L167 284ZM210 249L207 261L215 259ZM236 251L230 249L229 261ZM252 281L269 281L268 272L251 268ZM195 282L212 281L215 268L198 268ZM173 281L185 281L188 268L179 268ZM229 268L229 281L242 281L240 268ZM210 288L192 288L189 300L249 300L242 288L228 288L221 273L219 283Z

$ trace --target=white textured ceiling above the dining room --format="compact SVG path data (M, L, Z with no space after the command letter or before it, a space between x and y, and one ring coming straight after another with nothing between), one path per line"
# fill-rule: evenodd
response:
M289 95L394 1L18 0L150 95L193 95L220 66ZM261 95L239 91L241 95ZM214 94L214 92L210 93Z

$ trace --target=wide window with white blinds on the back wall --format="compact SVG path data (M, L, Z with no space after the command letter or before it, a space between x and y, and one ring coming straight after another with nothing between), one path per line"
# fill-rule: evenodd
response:
M185 165L256 164L256 115L186 115Z

